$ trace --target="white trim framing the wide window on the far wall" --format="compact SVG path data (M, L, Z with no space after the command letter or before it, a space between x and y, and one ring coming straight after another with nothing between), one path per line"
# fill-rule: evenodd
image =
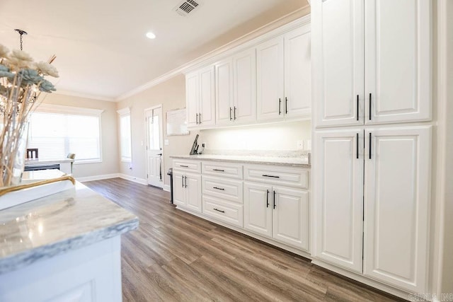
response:
M102 113L103 109L73 107L65 105L55 104L43 104L41 103L35 109L35 112L46 112L46 113L57 113L67 115L89 115L99 117L99 159L88 159L85 161L74 161L74 165L83 165L86 163L102 163L103 162L103 151L102 151ZM77 156L77 155L76 155Z

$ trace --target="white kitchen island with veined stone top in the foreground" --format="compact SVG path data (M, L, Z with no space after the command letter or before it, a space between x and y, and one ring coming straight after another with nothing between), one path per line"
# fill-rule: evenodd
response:
M121 301L120 235L138 223L80 182L0 211L0 301Z

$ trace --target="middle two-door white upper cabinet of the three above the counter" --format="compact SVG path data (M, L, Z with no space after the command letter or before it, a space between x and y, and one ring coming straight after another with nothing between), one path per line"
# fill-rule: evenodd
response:
M256 122L255 48L215 66L217 125Z

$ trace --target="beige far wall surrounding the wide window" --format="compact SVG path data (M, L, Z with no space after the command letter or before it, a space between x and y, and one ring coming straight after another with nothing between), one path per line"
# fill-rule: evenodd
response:
M118 173L120 169L118 165L116 103L57 93L46 95L42 103L104 110L101 115L102 163L75 164L74 176L85 178Z

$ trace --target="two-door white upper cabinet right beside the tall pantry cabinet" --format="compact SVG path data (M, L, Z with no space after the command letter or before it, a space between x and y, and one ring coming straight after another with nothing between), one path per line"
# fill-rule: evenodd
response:
M258 120L310 117L308 25L257 46Z

